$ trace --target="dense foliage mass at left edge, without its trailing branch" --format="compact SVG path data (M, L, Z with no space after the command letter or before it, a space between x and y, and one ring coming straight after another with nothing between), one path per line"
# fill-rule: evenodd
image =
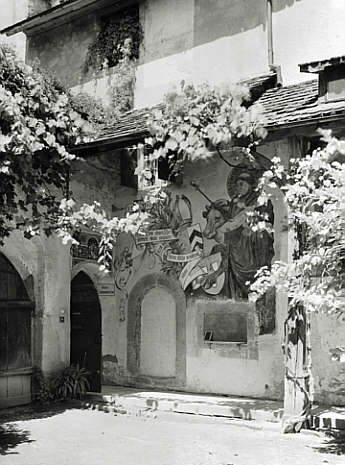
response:
M67 194L67 147L85 140L88 127L66 94L6 46L0 83L0 240L16 228L35 235L41 219L49 233Z

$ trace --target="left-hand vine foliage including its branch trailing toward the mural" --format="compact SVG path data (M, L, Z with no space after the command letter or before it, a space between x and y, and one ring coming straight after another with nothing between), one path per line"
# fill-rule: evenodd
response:
M143 215L107 218L101 205L78 206L69 185L75 156L92 127L54 79L0 48L0 243L15 229L28 239L53 231L64 242L89 227L101 233L100 262L109 262L119 231L139 227Z

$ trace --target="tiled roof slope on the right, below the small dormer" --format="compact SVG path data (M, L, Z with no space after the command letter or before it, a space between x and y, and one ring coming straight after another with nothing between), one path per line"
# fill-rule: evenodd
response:
M255 105L261 106L263 122L268 130L345 117L345 100L318 101L317 80L269 89Z

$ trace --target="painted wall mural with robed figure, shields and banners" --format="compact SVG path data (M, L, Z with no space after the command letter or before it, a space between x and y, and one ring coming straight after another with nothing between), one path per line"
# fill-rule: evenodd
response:
M187 295L248 299L256 271L269 266L274 255L273 235L253 231L247 221L247 213L257 208L260 173L242 164L232 168L225 183L227 198L210 198L206 182L192 182L200 198L198 210L188 196L169 191L158 199L138 200L138 207L150 213L150 225L135 237L123 237L114 257L116 286L124 301L129 283L144 270L174 277ZM273 224L271 205L265 213ZM274 298L265 299L258 305L272 314Z

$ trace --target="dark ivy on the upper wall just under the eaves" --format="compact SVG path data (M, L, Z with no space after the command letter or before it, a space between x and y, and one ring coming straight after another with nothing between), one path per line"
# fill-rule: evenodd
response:
M95 41L89 45L85 72L118 65L125 58L126 41L130 43L129 59L137 59L142 35L138 8L104 18Z

